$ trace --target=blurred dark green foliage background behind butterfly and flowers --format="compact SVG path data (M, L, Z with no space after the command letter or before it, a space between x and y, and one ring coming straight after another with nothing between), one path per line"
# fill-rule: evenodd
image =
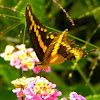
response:
M30 3L33 13L45 26L60 31L68 29L70 35L94 44L90 46L73 38L79 48L85 45L87 52L100 49L100 0L57 2L69 13L75 26L72 26L69 18L52 0L0 0L0 53L4 52L6 45L23 43L27 3ZM50 28L48 30L53 31ZM25 44L32 47L27 29L25 33ZM57 85L57 89L62 91L62 97L68 98L71 91L76 91L87 97L87 100L100 100L100 51L89 53L77 62L68 60L51 66L51 69L52 72L46 74L46 78ZM11 91L14 88L11 81L20 77L19 72L0 57L0 100L17 100ZM30 71L23 74L27 77L34 76Z

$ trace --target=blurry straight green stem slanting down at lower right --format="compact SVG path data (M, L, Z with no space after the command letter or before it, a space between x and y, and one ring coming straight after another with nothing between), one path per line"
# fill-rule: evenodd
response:
M76 62L77 63L77 62ZM83 71L81 70L81 68L79 66L76 67L77 71L80 73L80 75L82 76L82 78L84 79L84 81L87 83L87 85L89 86L89 88L91 89L91 91L93 92L93 94L96 94L96 91L94 90L94 88L92 87L91 83L88 82L87 77L85 76L85 74L83 73Z

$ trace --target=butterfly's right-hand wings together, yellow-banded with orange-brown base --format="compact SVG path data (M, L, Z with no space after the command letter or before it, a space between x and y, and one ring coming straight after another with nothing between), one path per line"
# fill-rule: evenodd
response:
M67 34L68 31L65 30L52 40L45 53L44 63L48 62L50 65L60 64L64 60L81 59L87 54L82 49L75 47Z

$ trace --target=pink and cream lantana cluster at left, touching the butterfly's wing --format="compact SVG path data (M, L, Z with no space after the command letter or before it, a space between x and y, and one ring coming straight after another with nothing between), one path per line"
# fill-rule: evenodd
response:
M16 45L16 47L7 45L5 52L0 54L6 61L10 61L11 66L15 68L22 68L23 71L33 69L34 73L39 73L41 69L35 66L36 62L39 62L33 48L26 48L24 44ZM50 67L42 69L45 72L50 72Z

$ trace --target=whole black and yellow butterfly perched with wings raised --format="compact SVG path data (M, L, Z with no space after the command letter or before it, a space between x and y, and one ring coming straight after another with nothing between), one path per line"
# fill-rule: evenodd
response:
M65 60L81 59L87 55L86 51L73 45L68 38L67 29L61 33L48 32L32 13L30 4L26 6L25 15L30 39L40 61L36 63L38 67L47 68Z

